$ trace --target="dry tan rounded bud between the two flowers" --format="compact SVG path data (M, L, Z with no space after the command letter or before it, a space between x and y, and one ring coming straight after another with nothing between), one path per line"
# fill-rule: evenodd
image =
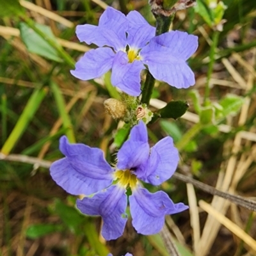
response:
M104 108L114 119L124 118L127 111L125 104L116 99L107 99L104 101Z

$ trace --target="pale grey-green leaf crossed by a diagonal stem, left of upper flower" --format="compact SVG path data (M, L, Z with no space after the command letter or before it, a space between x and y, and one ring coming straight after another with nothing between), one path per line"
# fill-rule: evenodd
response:
M49 26L35 23L35 27L44 33L45 38L51 38L56 42L56 45L59 45ZM47 41L42 38L42 36L38 35L33 29L29 28L26 23L20 22L19 29L21 39L28 48L29 52L33 52L48 58L49 60L62 62L56 49L49 45Z

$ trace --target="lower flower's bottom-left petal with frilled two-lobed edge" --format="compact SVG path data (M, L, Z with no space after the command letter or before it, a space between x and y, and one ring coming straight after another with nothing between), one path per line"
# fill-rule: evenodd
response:
M111 186L96 193L93 197L77 200L77 208L84 214L102 216L102 236L106 240L122 236L127 218L124 218L127 207L125 189Z

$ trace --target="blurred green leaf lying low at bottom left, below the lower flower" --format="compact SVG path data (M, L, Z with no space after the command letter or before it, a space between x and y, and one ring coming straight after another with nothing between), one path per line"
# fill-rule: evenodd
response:
M42 236L46 236L47 234L51 234L53 232L58 232L63 230L62 225L56 224L35 224L28 227L26 230L26 237L30 239L36 239Z

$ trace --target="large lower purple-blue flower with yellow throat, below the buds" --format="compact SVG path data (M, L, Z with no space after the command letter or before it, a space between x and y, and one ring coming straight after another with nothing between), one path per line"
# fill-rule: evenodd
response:
M182 203L174 204L163 191L150 193L141 187L139 179L155 186L170 179L179 162L172 138L166 137L149 147L147 127L142 121L132 128L129 140L118 151L115 169L99 148L70 144L65 136L60 139L60 150L65 158L52 164L52 179L68 193L86 195L77 200L77 207L84 214L102 216L102 236L106 240L116 239L124 232L128 187L132 191L132 225L140 234L158 233L166 214L188 209Z

